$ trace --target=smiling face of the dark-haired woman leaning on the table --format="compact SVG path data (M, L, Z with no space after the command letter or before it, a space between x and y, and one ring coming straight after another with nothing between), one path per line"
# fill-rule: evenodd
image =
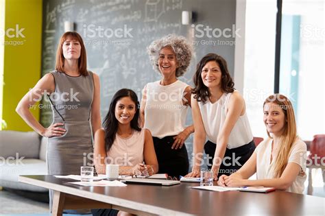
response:
M207 62L202 68L201 77L204 86L215 88L221 86L221 69L215 61Z

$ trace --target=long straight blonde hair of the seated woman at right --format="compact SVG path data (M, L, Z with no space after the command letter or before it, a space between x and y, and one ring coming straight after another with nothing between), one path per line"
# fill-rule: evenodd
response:
M278 104L282 109L282 112L285 114L285 130L280 137L280 149L274 167L274 178L280 178L287 166L291 147L297 139L296 119L291 101L289 101L289 99L284 95L270 95L265 99L263 108L267 103ZM272 139L272 136L268 131L267 136L269 136L269 139Z

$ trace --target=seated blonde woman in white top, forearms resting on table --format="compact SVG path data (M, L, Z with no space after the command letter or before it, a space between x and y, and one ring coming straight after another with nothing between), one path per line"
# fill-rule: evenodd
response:
M239 171L220 176L218 184L275 187L302 193L306 180L306 143L297 136L293 106L287 97L276 94L267 97L263 110L269 139L256 147ZM248 180L254 173L257 180Z

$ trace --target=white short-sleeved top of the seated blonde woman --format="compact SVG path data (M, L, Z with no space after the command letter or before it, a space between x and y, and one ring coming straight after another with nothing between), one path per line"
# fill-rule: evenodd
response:
M272 139L267 139L260 143L256 149L256 177L257 179L274 178L274 167L276 159L271 160ZM306 180L306 152L307 147L301 139L297 139L291 147L288 163L296 163L300 165L301 173L296 180L287 189L289 192L302 193L304 191L304 181Z

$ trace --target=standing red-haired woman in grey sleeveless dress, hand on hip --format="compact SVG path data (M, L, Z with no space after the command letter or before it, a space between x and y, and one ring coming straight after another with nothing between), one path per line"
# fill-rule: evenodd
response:
M77 32L64 33L58 45L56 71L44 75L19 102L16 111L36 132L49 137L49 175L80 174L80 167L92 163L93 134L101 127L99 77L86 70L86 49ZM40 94L52 104L53 123L48 128L33 117ZM53 193L50 191L50 208ZM82 213L74 211L71 213Z

